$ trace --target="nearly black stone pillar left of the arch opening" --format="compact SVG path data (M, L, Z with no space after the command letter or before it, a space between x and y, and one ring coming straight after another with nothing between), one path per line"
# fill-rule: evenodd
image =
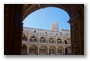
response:
M20 4L4 5L4 54L21 54L22 8Z

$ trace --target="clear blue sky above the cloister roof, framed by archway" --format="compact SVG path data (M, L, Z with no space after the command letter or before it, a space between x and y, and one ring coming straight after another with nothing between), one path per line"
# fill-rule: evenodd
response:
M56 7L47 7L28 15L23 21L23 26L50 30L51 24L55 21L60 28L70 29L70 25L67 22L69 18L66 11Z

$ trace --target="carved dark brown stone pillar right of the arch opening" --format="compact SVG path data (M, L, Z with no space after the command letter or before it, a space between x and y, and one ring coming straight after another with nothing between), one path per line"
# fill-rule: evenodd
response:
M71 49L72 54L84 54L84 14L74 12L69 20L71 26Z

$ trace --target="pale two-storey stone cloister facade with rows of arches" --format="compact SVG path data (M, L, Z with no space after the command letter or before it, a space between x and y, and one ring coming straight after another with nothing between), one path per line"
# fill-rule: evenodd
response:
M58 28L53 24L55 28ZM53 27L51 27L53 28ZM23 28L22 54L30 55L64 55L71 54L70 30L43 30L30 27Z

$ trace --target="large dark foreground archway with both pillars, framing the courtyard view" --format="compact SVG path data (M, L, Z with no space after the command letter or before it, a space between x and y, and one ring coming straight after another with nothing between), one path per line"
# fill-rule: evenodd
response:
M76 50L77 54L80 55L84 54L83 4L5 4L4 5L5 55L21 54L23 19L37 9L51 6L61 8L69 14L70 16L69 23L71 27L72 53L76 54L74 53L74 50ZM79 49L79 51L77 49Z

